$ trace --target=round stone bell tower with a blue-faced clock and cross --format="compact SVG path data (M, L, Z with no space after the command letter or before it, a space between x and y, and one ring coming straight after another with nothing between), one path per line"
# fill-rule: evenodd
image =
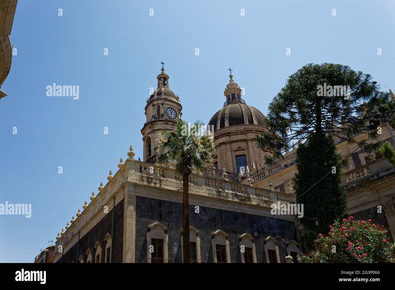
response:
M143 161L155 163L158 148L156 141L162 130L175 132L177 122L181 118L182 106L178 95L175 95L169 89L169 76L166 75L165 69L156 77L158 79L158 87L154 93L147 99L145 106L145 122L141 134L143 135Z

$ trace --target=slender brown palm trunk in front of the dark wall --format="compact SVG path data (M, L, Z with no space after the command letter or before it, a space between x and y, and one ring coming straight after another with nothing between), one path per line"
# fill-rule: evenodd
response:
M183 262L190 262L189 245L189 175L182 175L182 253Z

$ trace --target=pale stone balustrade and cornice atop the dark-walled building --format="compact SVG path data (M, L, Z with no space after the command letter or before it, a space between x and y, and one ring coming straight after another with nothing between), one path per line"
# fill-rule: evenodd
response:
M222 171L221 171L222 172ZM221 173L222 174L222 173ZM229 178L229 175L228 175ZM127 159L113 178L103 187L96 197L81 212L64 234L56 241L56 245L66 245L81 228L90 221L102 206L110 202L117 191L122 190L125 182L141 183L156 186L161 184L163 188L182 191L182 175L175 172L175 166L170 167L144 163L135 159ZM192 173L189 176L190 194L201 194L213 196L215 192L221 191L215 197L233 199L238 202L249 202L267 206L272 201L292 202L292 195L280 193L273 190L262 189L252 185L245 185L231 180L208 177L203 174ZM197 185L197 186L195 186ZM167 187L166 187L167 186ZM214 191L214 193L211 193ZM88 193L87 193L88 196ZM81 201L82 202L82 201Z

